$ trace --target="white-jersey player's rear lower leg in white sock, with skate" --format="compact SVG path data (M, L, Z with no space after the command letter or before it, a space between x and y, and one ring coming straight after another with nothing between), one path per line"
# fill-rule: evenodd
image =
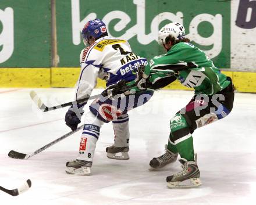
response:
M116 120L112 121L115 133L115 142L112 146L106 148L106 156L110 159L128 160L129 159L129 116L122 114Z

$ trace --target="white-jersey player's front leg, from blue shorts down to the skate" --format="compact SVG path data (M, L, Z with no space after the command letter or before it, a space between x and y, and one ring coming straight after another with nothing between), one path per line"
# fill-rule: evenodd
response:
M118 120L123 113L148 102L152 95L152 92L144 92L117 99L101 96L94 100L89 107L91 112L85 116L79 156L76 160L66 163L66 172L68 174L89 175L101 125L112 120ZM127 129L129 130L129 127Z

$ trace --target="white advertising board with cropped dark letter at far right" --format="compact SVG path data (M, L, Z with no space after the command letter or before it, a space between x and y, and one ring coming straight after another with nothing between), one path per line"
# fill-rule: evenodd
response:
M256 1L231 1L232 69L256 71Z

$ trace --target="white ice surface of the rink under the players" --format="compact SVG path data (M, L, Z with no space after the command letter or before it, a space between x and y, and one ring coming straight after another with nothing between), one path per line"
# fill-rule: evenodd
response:
M21 205L150 205L256 204L256 95L236 93L229 116L193 134L202 186L168 189L165 179L180 170L177 162L148 171L152 157L163 153L170 118L189 102L190 91L157 91L144 106L131 110L130 160L106 158L113 142L105 124L95 151L92 175L67 175L66 161L75 159L80 132L27 160L8 157L10 150L30 153L69 132L67 108L42 113L29 98L30 89L0 89L0 186L14 189L31 179L20 196L0 191L0 204ZM73 99L74 89L35 89L47 105ZM94 94L100 90L95 90ZM88 106L87 106L88 107Z

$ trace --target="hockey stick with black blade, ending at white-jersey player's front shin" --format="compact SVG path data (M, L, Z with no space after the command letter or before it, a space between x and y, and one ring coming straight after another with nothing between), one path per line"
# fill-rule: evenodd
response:
M34 156L35 154L38 154L38 153L42 152L42 150L45 150L45 149L49 148L52 145L55 145L57 142L62 141L62 139L65 139L68 136L74 134L75 132L81 130L81 128L83 128L83 126L84 125L81 125L76 130L70 131L67 134L62 135L60 138L55 139L55 141L52 141L52 142L48 143L47 145L43 146L42 148L40 148L38 150L35 150L35 152L29 153L29 154L23 154L23 153L20 153L20 152L16 152L14 150L10 150L10 152L8 153L8 156L11 157L11 158L15 158L15 159L28 159L28 158Z

